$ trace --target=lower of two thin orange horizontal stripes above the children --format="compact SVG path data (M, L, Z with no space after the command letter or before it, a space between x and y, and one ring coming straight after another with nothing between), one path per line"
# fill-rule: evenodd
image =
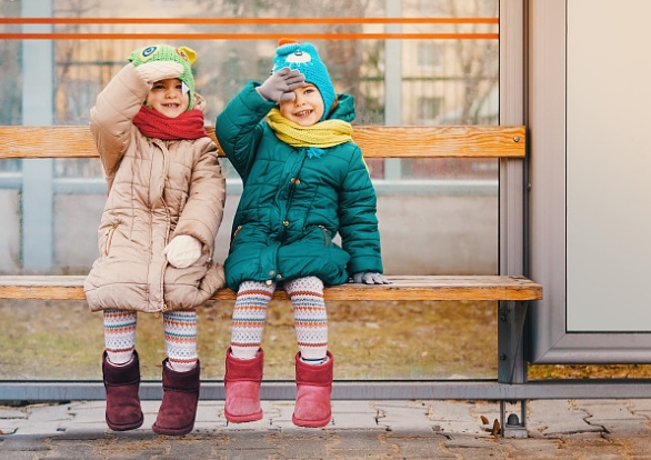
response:
M0 40L497 40L499 33L0 33Z

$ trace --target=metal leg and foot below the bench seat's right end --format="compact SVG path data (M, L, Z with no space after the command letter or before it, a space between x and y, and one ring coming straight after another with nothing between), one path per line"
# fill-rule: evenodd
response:
M524 320L527 302L500 302L498 309L498 381L525 383ZM507 403L519 404L520 414L507 416ZM504 438L527 438L527 400L500 401L500 427Z

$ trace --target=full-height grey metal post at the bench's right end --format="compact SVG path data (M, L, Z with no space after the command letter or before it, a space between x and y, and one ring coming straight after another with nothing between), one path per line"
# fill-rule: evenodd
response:
M525 113L527 0L500 1L500 124L523 124ZM525 162L500 161L500 274L527 274ZM500 302L498 320L498 380L527 381L523 328L527 306ZM502 436L527 438L527 401L520 417L507 416L500 401Z

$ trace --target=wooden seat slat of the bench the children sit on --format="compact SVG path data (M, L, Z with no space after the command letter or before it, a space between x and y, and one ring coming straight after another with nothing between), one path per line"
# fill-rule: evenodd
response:
M326 288L326 300L541 300L542 287L510 276L391 276L392 284L348 283ZM0 299L83 300L83 276L2 276ZM234 300L221 289L213 299ZM277 291L274 299L287 299Z

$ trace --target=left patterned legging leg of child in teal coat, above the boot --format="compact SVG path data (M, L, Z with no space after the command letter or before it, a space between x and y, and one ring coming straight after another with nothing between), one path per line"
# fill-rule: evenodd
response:
M276 283L244 281L240 284L231 328L230 353L239 359L252 359L260 349L267 307L276 291Z

